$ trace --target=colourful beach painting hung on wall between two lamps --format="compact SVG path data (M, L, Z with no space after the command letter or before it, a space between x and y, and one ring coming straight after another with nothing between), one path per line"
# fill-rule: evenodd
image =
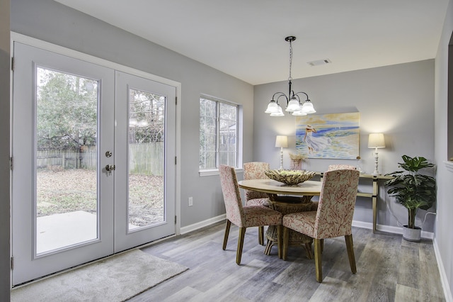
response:
M355 160L360 156L360 113L296 117L296 151L308 158Z

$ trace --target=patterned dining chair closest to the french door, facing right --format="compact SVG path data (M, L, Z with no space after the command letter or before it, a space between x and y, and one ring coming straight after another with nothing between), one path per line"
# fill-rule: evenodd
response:
M220 184L226 209L226 228L224 235L223 250L228 242L231 223L239 227L238 247L236 250L236 264L241 264L243 240L246 229L264 225L277 225L278 237L282 234L282 213L266 208L265 206L242 206L241 194L234 167L221 165L219 167ZM281 241L281 240L280 240ZM279 246L278 255L281 257Z

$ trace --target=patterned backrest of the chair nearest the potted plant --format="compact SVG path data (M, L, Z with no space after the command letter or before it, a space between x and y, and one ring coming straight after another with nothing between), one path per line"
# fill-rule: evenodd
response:
M360 172L340 169L324 173L314 223L318 239L351 235Z

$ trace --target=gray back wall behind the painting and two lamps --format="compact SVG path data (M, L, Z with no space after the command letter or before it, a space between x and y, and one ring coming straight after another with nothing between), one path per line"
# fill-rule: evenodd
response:
M335 64L335 63L333 63ZM315 68L315 67L300 67ZM386 147L379 149L379 172L398 170L401 155L423 156L434 162L434 60L343 72L321 77L295 79L294 91L305 91L316 114L360 112L361 167L374 170L373 149L368 149L368 134L384 133ZM284 150L284 167L289 167L289 152L295 151L295 117L270 117L265 108L277 91L287 91L287 81L255 86L253 159L280 166L280 150L275 148L275 135L289 135L289 148ZM326 171L329 164L357 164L355 160L309 159L304 169ZM362 184L361 184L362 186ZM364 191L366 184L363 184ZM397 226L386 208L386 190L379 190L378 225ZM389 200L401 223L407 223L406 208ZM418 221L425 211L419 211ZM370 198L358 198L354 220L372 222ZM433 232L433 218L428 216L423 230Z

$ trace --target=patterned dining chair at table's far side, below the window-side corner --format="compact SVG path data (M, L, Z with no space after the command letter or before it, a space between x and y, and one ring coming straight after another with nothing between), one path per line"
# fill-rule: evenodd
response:
M268 162L245 162L243 164L243 179L268 179L264 173L270 169ZM246 206L270 206L267 193L245 190ZM258 242L264 245L264 227L258 227Z

